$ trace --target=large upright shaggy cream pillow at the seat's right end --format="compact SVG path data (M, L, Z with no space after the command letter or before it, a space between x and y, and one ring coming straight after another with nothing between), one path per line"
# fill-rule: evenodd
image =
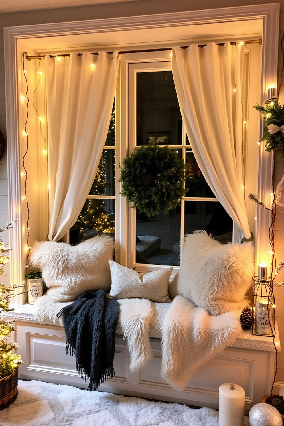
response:
M254 271L250 243L220 244L206 231L187 234L181 268L169 285L169 295L180 294L211 315L242 309Z

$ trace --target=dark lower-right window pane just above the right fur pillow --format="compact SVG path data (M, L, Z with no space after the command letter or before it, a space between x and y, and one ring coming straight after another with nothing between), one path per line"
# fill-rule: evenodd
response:
M219 201L185 201L184 233L205 229L222 242L232 241L233 221Z

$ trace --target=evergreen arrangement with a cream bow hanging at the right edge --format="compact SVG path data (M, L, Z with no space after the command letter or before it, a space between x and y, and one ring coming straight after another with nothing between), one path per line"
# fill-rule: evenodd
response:
M255 108L261 114L264 114L266 127L261 141L265 141L265 151L275 151L284 157L284 105L278 102L272 102L264 107L255 105Z

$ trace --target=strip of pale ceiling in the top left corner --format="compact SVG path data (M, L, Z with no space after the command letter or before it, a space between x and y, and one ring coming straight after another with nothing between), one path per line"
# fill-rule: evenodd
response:
M120 3L123 1L134 0L0 0L0 14L9 12L22 12L25 10L86 6L100 3Z

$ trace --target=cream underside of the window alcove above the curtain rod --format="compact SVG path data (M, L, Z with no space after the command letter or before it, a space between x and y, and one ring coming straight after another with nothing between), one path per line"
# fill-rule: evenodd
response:
M2 1L2 0L1 0ZM199 25L173 26L169 28L136 29L129 31L95 32L88 34L61 35L22 39L29 55L59 54L100 49L132 50L143 46L159 47L184 46L195 42L222 40L251 40L261 37L262 20L209 23Z

